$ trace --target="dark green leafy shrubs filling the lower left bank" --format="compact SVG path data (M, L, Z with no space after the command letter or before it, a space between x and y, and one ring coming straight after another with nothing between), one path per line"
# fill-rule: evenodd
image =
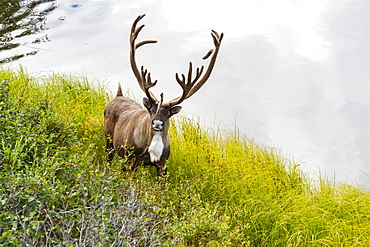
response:
M165 241L159 206L105 167L78 122L51 101L26 104L1 93L0 244L145 245ZM69 89L68 89L69 90ZM27 108L26 108L27 106Z

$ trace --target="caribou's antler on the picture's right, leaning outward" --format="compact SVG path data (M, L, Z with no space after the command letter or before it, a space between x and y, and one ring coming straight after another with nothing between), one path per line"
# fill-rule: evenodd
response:
M195 78L192 79L193 65L190 62L189 63L189 71L188 71L187 80L186 80L184 74L181 75L182 78L180 79L178 73L176 73L176 81L180 84L180 86L182 87L182 90L183 90L182 95L173 99L173 100L171 100L170 102L168 102L166 104L168 104L170 106L180 104L182 101L184 101L185 99L189 98L194 93L196 93L204 85L204 83L206 83L206 81L208 80L209 76L212 73L212 69L215 65L216 58L217 58L218 52L220 50L220 45L221 45L221 41L222 41L222 38L223 38L224 34L221 33L221 35L219 35L216 31L212 30L211 35L212 35L212 38L213 38L213 43L215 45L215 49L209 50L208 53L203 57L203 59L207 59L212 55L205 74L203 75L202 78L200 78L200 76L203 73L203 69L204 69L204 66L202 66L201 68L196 69Z

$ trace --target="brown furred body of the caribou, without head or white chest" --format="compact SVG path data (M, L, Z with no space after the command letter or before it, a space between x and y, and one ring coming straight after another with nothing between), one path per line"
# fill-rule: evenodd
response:
M155 166L158 174L165 173L165 165L170 154L169 120L165 122L162 131L154 131L151 123L152 116L147 109L117 93L104 111L108 161L111 161L114 153L117 153L120 157L127 157L133 161L132 170L142 164ZM164 148L161 158L153 163L150 161L148 149L155 134L161 135Z

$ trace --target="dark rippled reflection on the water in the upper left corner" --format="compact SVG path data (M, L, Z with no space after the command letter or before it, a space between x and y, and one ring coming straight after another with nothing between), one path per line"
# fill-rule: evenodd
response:
M55 0L6 0L0 5L0 51L26 45L24 51L14 51L0 58L0 63L11 62L25 56L35 55L38 50L32 44L48 42L45 30L46 16L56 8ZM10 54L10 53L9 53Z

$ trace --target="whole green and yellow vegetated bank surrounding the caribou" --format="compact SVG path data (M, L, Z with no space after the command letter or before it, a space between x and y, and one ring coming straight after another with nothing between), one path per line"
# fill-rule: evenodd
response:
M368 246L370 191L237 130L171 124L169 174L105 161L98 82L0 69L0 245Z

